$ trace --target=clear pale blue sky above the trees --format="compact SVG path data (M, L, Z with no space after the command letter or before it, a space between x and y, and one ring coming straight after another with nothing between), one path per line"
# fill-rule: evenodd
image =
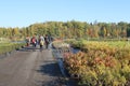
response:
M0 27L69 20L130 23L130 0L0 0Z

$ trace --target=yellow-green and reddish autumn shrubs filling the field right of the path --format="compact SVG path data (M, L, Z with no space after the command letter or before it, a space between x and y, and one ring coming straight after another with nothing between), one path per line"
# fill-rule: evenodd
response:
M80 48L77 54L65 53L65 68L83 86L129 86L130 43L69 41Z

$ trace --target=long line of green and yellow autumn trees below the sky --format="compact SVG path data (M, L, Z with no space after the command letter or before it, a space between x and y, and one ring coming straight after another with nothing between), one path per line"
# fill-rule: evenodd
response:
M130 24L120 23L86 23L86 22L46 22L32 24L24 28L0 28L0 37L25 38L27 35L50 34L56 38L128 38Z

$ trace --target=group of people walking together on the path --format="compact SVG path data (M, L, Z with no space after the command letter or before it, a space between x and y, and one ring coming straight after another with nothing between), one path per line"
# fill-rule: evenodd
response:
M39 35L39 38L36 38L35 35L32 38L27 37L26 43L27 46L31 44L34 47L40 45L40 49L43 49L43 46L46 46L46 48L49 48L50 38L48 34L46 34L46 37Z

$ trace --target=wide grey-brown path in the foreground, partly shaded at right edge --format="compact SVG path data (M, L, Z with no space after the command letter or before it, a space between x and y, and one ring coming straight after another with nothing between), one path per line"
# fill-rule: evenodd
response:
M0 59L0 86L66 85L51 49L23 49Z

